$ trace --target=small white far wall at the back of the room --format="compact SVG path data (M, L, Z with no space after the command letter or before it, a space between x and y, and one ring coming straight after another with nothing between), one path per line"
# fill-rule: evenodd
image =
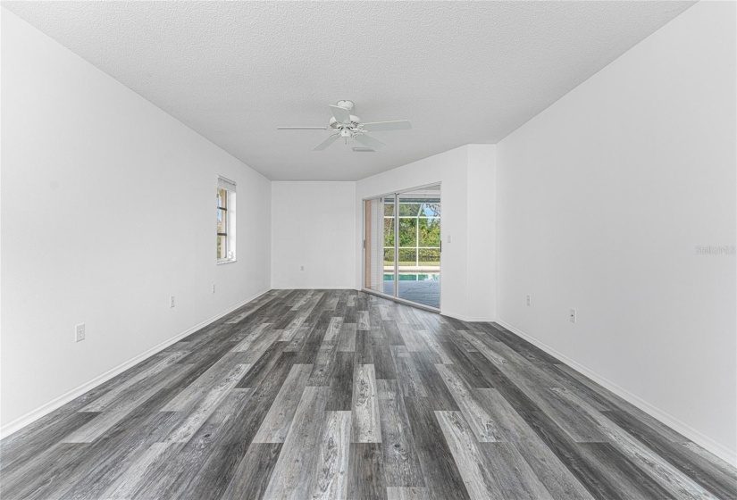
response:
M272 287L353 288L355 245L355 182L272 182Z

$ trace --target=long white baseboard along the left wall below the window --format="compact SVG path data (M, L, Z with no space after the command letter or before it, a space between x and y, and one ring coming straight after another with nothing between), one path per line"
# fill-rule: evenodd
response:
M264 291L261 291L255 294L255 296L248 297L246 300L229 307L225 311L215 314L212 318L208 318L207 320L202 321L201 323L193 326L192 328L186 329L178 333L174 337L164 340L158 346L151 347L146 352L138 354L137 356L134 356L127 362L123 362L122 364L119 364L112 370L105 371L105 373L103 373L102 375L99 375L98 377L89 380L88 382L82 384L80 387L73 388L68 393L63 394L62 396L56 397L52 401L49 401L46 404L42 404L37 409L26 413L25 415L15 419L12 422L9 422L7 425L4 425L2 428L0 428L0 438L8 437L11 434L14 434L15 432L18 432L19 430L23 429L27 425L33 423L34 421L38 421L38 419L40 419L41 417L44 417L48 413L53 412L57 408L62 407L64 404L67 404L71 402L72 400L76 399L77 397L82 396L84 393L94 389L95 387L106 382L107 380L112 379L116 375L120 375L123 371L128 370L131 366L137 364L138 362L142 362L146 360L147 358L153 356L154 354L163 351L163 349L165 349L168 346L171 346L175 342L179 342L182 338L187 337L188 335L192 333L195 333L198 329L205 328L207 325L209 325L210 323L213 323L214 321L218 321L226 314L229 314L230 312L235 311L239 307L242 307L248 304L252 300L255 300L256 298L263 296L270 289L271 288L267 288Z

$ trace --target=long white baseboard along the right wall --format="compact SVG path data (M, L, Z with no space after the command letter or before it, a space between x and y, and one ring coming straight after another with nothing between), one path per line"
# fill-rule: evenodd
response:
M533 346L537 346L546 353L550 354L553 357L556 357L561 362L564 362L571 368L573 368L575 371L578 371L582 375L588 377L589 379L597 382L600 386L607 388L607 390L612 391L616 394L616 396L621 397L624 399L627 403L630 403L638 408L640 408L643 412L648 413L651 417L657 419L658 421L663 422L671 429L674 429L677 432L680 432L683 434L683 436L688 437L696 443L697 445L703 447L706 449L709 453L715 454L725 462L729 462L732 465L737 464L737 454L735 454L732 450L727 448L726 446L722 445L721 443L716 442L711 437L705 436L702 434L699 430L693 429L690 425L684 423L683 421L678 420L673 415L671 415L668 412L664 412L663 410L657 408L657 406L654 406L653 404L649 404L647 401L642 399L640 396L635 396L630 391L625 389L624 387L618 386L615 382L612 382L611 380L605 379L599 373L596 371L590 370L589 368L583 366L579 362L575 362L565 354L557 352L557 350L553 349L552 347L540 342L535 337L532 337L531 335L524 333L520 329L516 329L506 321L502 321L497 319L496 322L503 326L504 328L508 329L512 333L514 333L518 337L522 337L524 340L527 340L530 342Z

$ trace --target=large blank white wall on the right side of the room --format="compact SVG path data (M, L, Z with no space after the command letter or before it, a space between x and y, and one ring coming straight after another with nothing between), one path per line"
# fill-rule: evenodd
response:
M737 268L695 249L735 245L734 21L695 4L502 140L497 172L499 321L726 458Z

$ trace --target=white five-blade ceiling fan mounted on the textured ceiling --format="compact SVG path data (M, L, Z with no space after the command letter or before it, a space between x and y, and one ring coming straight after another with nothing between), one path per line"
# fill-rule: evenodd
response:
M334 133L331 137L326 138L314 151L322 151L339 138L344 138L348 143L348 138L352 138L373 151L381 151L387 147L380 140L375 139L367 134L367 132L383 132L389 130L407 130L412 129L412 124L406 120L397 121L370 121L361 122L361 119L351 114L353 110L353 101L338 101L338 104L331 104L332 118L327 127L277 127L278 130L332 130Z

